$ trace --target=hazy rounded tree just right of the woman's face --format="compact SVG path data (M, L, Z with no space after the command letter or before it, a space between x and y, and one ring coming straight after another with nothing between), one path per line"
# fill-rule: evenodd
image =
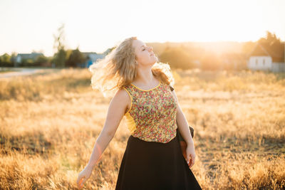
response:
M192 57L181 47L167 46L159 58L161 62L169 63L171 68L190 69L195 67Z

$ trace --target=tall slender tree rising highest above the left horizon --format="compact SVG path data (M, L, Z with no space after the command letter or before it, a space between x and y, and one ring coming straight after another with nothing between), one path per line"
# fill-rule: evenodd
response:
M53 56L53 63L56 64L58 68L64 68L66 63L66 50L65 50L65 34L64 34L64 24L58 28L58 33L53 34L54 45L53 48L56 48L57 53Z

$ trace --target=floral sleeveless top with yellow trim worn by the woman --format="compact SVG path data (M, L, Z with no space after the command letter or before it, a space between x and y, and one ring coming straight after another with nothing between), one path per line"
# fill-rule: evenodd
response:
M170 142L176 136L177 102L170 85L162 83L150 90L125 85L131 105L125 119L133 137L147 142Z

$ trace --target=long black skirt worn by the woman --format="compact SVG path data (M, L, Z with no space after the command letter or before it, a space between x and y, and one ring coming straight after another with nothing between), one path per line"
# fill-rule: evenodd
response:
M115 190L201 189L188 167L177 136L170 142L146 142L130 135Z

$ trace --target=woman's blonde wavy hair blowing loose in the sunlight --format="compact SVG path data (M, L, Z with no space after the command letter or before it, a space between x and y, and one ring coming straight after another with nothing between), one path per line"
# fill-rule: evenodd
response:
M137 37L126 38L119 46L90 65L88 70L92 73L91 86L103 93L104 97L111 97L115 91L135 80L138 65L135 63L135 48L133 40ZM170 65L157 62L152 65L152 74L162 83L174 85L174 78Z

